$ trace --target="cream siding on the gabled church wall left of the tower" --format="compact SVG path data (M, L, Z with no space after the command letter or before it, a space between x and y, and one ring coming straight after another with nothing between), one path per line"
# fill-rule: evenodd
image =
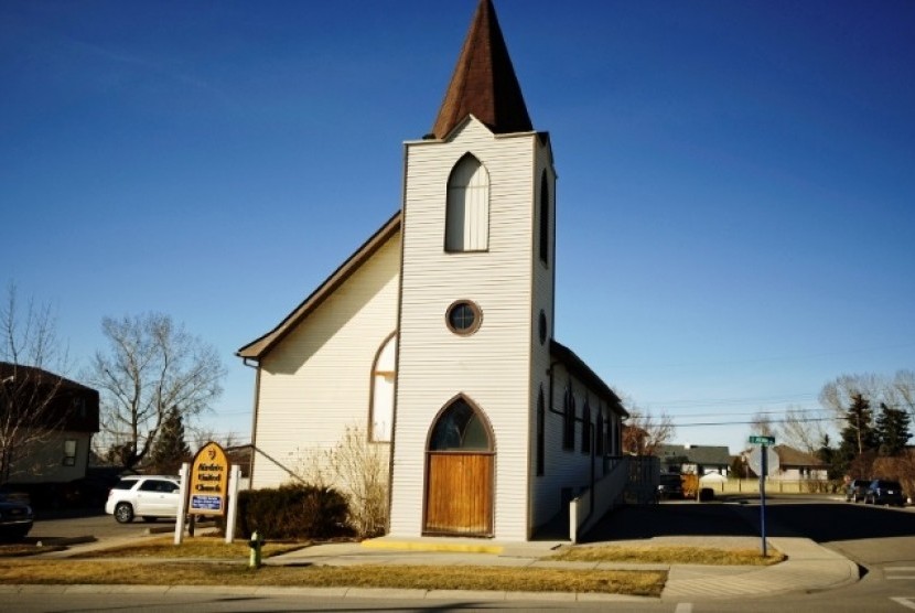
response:
M331 449L347 427L368 432L373 363L397 325L395 235L260 362L252 487L274 487Z

